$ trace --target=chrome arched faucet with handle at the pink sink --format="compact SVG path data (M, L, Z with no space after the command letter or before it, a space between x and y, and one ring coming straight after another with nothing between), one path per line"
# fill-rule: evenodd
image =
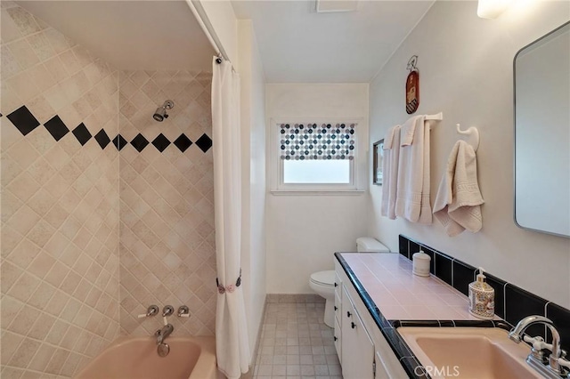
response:
M509 339L514 341L515 343L520 343L523 339L523 334L527 327L530 327L534 324L544 324L546 327L550 329L550 333L552 334L552 345L548 346L550 352L550 357L548 359L549 366L545 367L542 360L539 358L540 356L536 354L533 349L533 352L528 356L526 362L537 371L541 372L541 374L545 375L546 377L550 378L559 378L560 375L563 375L563 368L560 367L560 361L566 362L565 359L562 359L562 351L560 350L560 335L558 334L558 330L552 324L552 320L547 319L542 316L528 316L525 319L521 319L518 321L517 327L514 327L509 333ZM533 338L528 339L534 340ZM525 340L526 341L526 340ZM543 344L543 346L546 344ZM564 365L566 366L566 365Z

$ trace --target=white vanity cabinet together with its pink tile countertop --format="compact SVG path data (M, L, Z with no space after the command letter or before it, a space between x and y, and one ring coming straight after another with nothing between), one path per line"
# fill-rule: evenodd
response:
M335 254L334 337L345 379L426 377L396 331L399 325L494 326L468 312L467 296L439 278L417 277L411 268L401 254Z

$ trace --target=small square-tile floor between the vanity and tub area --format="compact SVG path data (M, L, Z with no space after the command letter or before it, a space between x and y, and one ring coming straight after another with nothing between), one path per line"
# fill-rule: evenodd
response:
M324 302L268 302L254 379L342 379Z

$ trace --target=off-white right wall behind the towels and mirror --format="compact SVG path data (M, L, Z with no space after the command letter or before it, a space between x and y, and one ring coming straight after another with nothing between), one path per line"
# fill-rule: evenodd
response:
M525 3L525 4L523 4ZM560 305L570 306L570 240L518 229L513 222L513 58L569 19L565 2L519 2L497 20L476 16L476 2L436 2L371 84L371 141L408 117L406 63L419 56L417 114L444 112L432 131L432 204L458 139L454 125L475 125L483 230L449 238L442 226L380 217L381 189L371 186L369 233L396 249L398 233L472 264Z

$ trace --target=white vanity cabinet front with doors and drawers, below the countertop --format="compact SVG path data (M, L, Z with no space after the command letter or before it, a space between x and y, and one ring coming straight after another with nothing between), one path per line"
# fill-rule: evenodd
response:
M400 379L408 375L335 260L335 346L345 379ZM379 306L379 304L377 304Z

